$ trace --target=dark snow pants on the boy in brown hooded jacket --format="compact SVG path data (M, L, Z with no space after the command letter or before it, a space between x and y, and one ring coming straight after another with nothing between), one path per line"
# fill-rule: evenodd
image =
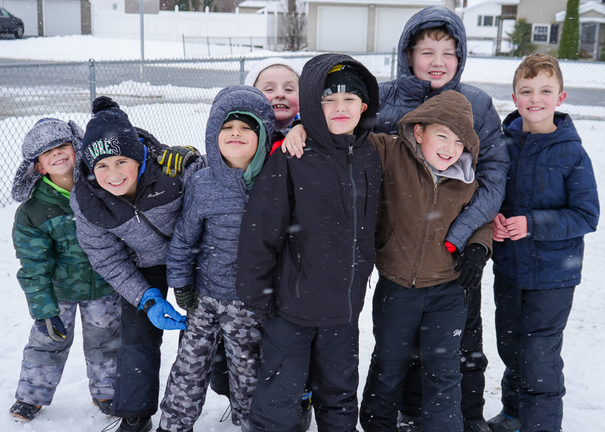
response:
M460 338L465 292L456 281L405 288L380 276L373 298L375 348L360 422L366 432L395 431L404 377L419 347L425 432L462 432Z

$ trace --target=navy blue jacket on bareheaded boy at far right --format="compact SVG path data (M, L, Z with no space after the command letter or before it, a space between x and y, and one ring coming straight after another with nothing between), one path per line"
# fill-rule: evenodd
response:
M523 290L580 283L584 234L597 229L593 165L569 115L552 133L522 132L519 111L504 120L511 167L500 212L525 216L528 236L494 242L494 274Z

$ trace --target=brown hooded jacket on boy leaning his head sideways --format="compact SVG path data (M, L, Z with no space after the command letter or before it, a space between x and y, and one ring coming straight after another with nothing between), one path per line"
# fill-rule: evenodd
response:
M424 288L458 279L459 272L454 272L457 257L447 251L445 236L478 187L474 179L465 183L457 178L436 178L431 173L418 148L420 144L413 138L413 126L418 123L443 124L456 133L465 152L472 156L473 170L479 151L471 104L453 90L431 97L405 115L398 124L399 137L384 133L370 135L382 163L375 263L380 274L407 288ZM467 246L471 243L485 245L489 258L492 252L489 223L474 232Z

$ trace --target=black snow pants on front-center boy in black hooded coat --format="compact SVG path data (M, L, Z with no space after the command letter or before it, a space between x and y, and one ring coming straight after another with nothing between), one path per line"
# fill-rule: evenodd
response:
M306 327L282 317L267 318L250 431L294 431L301 416L307 377L313 390L318 432L357 429L359 328Z

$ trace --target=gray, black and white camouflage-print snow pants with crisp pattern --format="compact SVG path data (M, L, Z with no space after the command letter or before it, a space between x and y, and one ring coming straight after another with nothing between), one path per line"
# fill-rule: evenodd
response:
M241 301L201 297L195 314L187 313L187 330L160 404L163 429L189 431L200 417L219 335L225 341L231 406L248 424L261 364L261 327L259 316L245 309Z

